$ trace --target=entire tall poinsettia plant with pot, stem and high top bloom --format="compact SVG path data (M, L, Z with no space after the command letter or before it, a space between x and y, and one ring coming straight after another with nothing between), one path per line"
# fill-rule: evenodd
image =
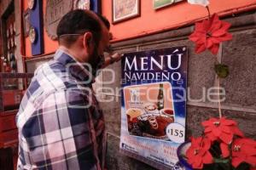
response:
M189 39L195 42L195 53L206 49L218 54L219 44L232 39L228 32L230 23L219 20L218 14L211 16L208 0L188 0L207 8L208 18L195 23L195 31ZM219 79L229 75L227 65L215 65ZM218 95L218 118L202 122L204 132L200 137L191 137L189 142L177 149L179 163L185 169L206 170L256 170L256 141L248 139L237 127L237 122L222 116Z

